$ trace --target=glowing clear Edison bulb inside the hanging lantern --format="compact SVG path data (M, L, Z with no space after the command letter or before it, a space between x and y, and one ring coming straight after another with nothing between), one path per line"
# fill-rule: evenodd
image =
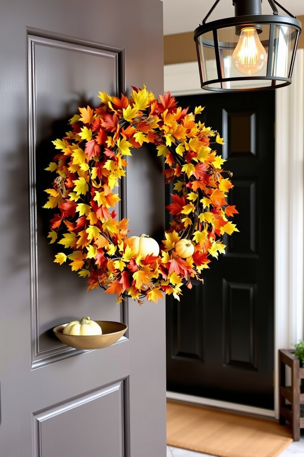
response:
M237 47L232 54L235 68L244 74L258 73L266 65L266 51L255 28L244 28L241 31Z

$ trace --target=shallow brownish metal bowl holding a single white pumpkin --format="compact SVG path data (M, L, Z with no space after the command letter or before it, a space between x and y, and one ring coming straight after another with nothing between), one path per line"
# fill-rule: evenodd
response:
M64 335L62 330L67 324L57 325L53 332L62 343L76 349L101 349L119 340L128 329L128 325L110 320L96 320L100 325L102 335Z

